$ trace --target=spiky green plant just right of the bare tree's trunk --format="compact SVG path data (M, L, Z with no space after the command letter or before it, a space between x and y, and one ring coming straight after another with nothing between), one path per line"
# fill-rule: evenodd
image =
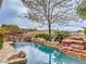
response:
M54 40L58 40L58 41L61 42L61 40L62 40L63 38L66 38L66 37L69 37L69 36L70 36L70 33L69 33L69 31L56 31L56 33L54 33Z

